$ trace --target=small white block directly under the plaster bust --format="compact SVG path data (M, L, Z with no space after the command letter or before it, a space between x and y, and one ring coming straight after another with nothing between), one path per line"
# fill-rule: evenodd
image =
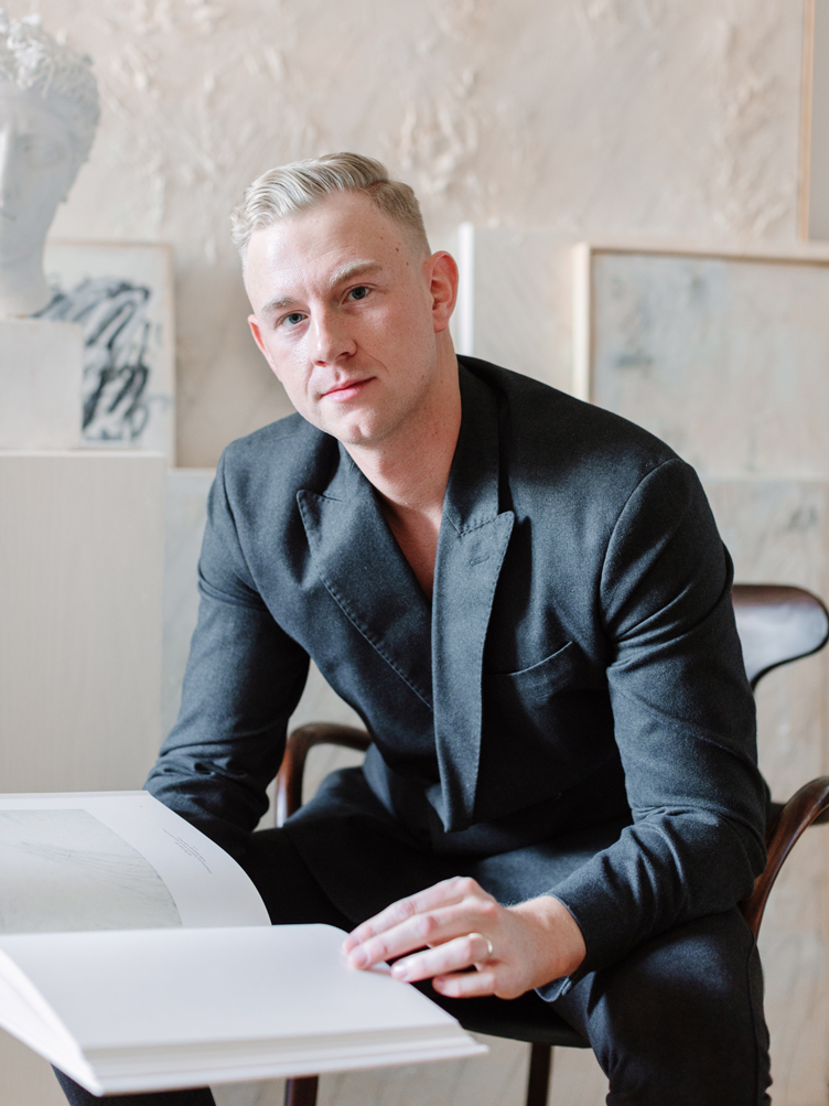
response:
M0 320L0 449L81 445L83 330Z

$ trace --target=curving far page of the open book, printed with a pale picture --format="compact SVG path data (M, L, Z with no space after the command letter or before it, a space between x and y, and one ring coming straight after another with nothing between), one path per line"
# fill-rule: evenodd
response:
M267 925L235 860L145 791L0 795L0 932Z

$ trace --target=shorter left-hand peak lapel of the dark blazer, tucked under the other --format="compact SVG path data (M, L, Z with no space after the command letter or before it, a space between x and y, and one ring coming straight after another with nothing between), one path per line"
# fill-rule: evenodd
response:
M298 491L311 555L346 617L431 709L429 603L371 484L340 447L323 494Z

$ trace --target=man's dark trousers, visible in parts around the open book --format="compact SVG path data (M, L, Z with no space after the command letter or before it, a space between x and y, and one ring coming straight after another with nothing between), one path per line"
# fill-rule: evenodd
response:
M274 925L350 929L286 833L253 837L245 867ZM553 1003L610 1081L609 1106L764 1106L768 1032L757 949L741 914L712 915L641 945ZM72 1106L94 1095L56 1073ZM207 1088L117 1095L113 1106L214 1106Z

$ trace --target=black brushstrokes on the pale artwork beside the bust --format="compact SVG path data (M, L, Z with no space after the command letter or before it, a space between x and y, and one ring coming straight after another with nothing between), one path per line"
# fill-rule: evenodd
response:
M85 441L135 442L147 426L151 295L117 276L87 276L71 291L54 289L35 316L84 328Z

